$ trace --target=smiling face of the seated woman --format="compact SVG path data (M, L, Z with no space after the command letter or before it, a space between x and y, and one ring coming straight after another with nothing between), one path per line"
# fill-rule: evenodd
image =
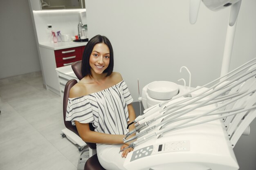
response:
M90 55L91 72L102 74L108 68L110 62L110 51L106 44L96 44Z

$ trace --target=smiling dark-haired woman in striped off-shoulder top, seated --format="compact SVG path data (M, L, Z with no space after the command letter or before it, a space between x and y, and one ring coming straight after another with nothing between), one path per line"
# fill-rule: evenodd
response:
M108 38L96 35L85 46L83 79L70 89L66 121L72 121L83 141L97 144L97 156L106 170L125 170L124 158L132 151L123 138L135 127L132 97L120 73L113 72L113 49ZM89 123L95 128L90 130Z

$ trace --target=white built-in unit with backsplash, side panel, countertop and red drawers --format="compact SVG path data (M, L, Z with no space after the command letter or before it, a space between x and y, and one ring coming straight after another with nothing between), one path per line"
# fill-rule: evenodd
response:
M29 2L43 75L43 86L60 95L55 69L82 59L83 49L87 42L71 40L79 34L78 23L87 24L86 9L41 10L40 1L29 0ZM54 43L52 32L57 33L58 31L61 35L67 35L69 38Z

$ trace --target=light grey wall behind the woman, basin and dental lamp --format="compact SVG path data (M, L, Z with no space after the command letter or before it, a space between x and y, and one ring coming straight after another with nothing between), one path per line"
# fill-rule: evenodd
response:
M132 97L149 82L177 79L187 66L191 86L220 76L229 8L213 12L201 3L198 20L189 23L189 0L85 0L89 38L106 35L112 42L115 71L122 74ZM231 69L256 57L255 0L243 0L238 16ZM256 120L250 136L234 148L240 170L256 170Z

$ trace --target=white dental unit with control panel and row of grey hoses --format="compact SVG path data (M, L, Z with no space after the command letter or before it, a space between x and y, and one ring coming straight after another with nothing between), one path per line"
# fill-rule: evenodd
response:
M249 134L256 117L255 91L256 58L188 91L191 97L178 94L144 110L133 122L135 130L124 138L134 148L125 167L238 170L232 148L241 135Z

